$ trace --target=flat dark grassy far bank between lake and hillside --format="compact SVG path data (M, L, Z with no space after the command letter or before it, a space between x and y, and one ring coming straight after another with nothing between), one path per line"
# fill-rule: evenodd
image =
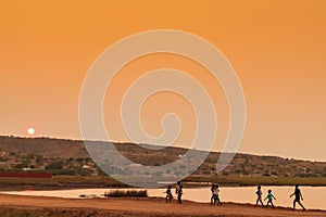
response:
M210 187L218 183L222 187L255 187L261 186L310 186L326 187L326 178L266 178L266 177L221 177L209 179L208 177L189 177L183 180L186 188ZM130 188L108 176L54 176L52 178L13 178L0 177L0 191L22 190L68 190L68 189L101 189L101 188Z

